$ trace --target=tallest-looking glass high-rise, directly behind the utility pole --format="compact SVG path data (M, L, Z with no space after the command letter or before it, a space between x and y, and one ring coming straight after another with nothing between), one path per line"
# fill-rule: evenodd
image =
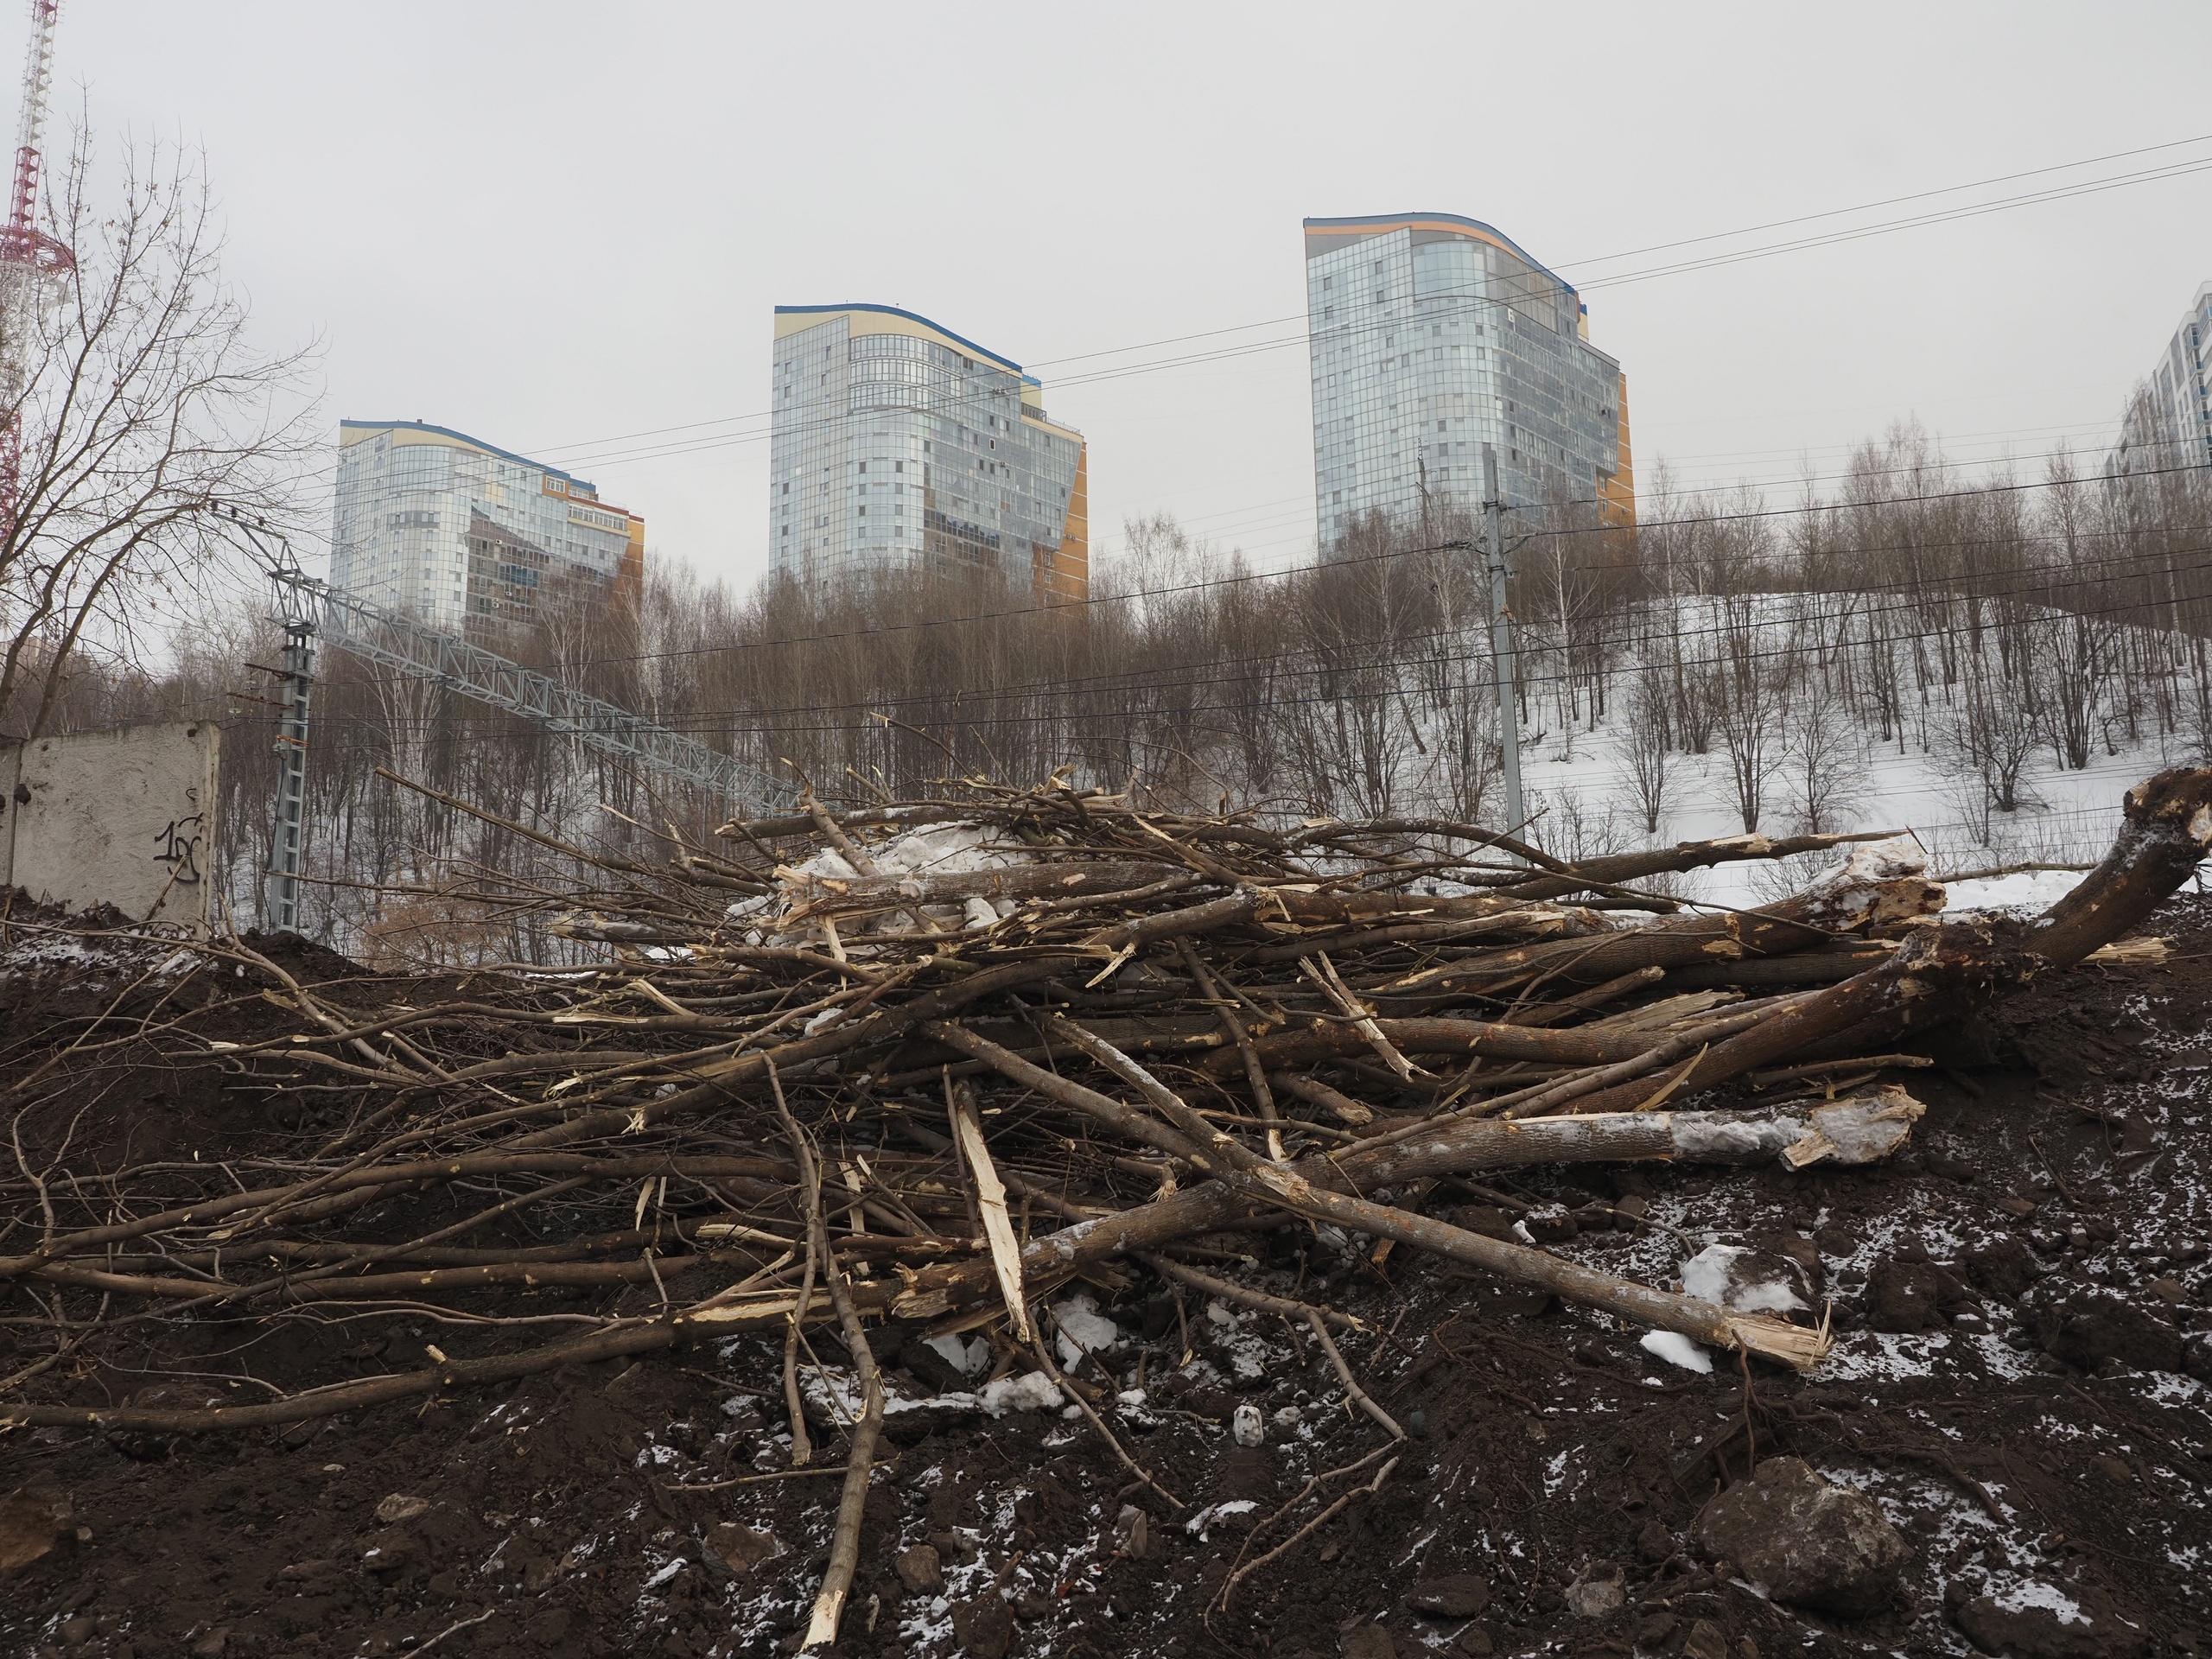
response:
M1480 219L1305 221L1321 538L1365 513L1478 507L1482 447L1511 507L1635 522L1628 378L1575 290Z

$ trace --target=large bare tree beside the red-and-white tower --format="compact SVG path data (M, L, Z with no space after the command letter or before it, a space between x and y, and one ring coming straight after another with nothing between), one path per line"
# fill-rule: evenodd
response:
M82 657L131 661L159 599L201 586L226 542L201 511L283 520L310 431L310 354L250 341L223 281L221 228L195 155L95 164L80 137L53 175L46 234L66 270L9 307L18 500L0 515L0 721L49 728Z

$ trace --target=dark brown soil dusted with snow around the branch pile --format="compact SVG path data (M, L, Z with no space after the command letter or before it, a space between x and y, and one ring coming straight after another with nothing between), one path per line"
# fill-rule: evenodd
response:
M1091 1376L1108 1385L1117 1436L1183 1509L1135 1486L1084 1422L1057 1413L900 1425L838 1650L1772 1659L1973 1652L1966 1630L2017 1652L2212 1650L2212 902L2179 902L2154 931L2170 962L2079 969L1949 1040L1947 1066L1978 1071L1907 1079L1929 1115L1891 1168L1584 1168L1427 1199L1469 1225L1564 1206L1573 1237L1555 1248L1650 1281L1710 1241L1801 1256L1840 1336L1820 1374L1743 1376L1719 1358L1701 1376L1604 1316L1405 1250L1378 1265L1310 1232L1239 1234L1221 1243L1250 1263L1221 1272L1374 1325L1345 1340L1347 1358L1411 1431L1383 1489L1219 1608L1248 1533L1378 1431L1281 1321L1097 1287L1126 1343L1108 1376ZM126 1011L150 1011L164 995L184 1006L257 991L215 973L131 989L144 967L0 971L0 1075L82 1035L117 993ZM301 949L288 969L349 973ZM250 1000L219 1018L257 1022ZM93 1164L265 1148L319 1110L133 1071L104 1051L60 1075L66 1091L42 1088L24 1130L44 1144L77 1119ZM1621 1214L1639 1206L1644 1223ZM498 1307L606 1305L538 1292ZM73 1296L62 1312L84 1318L93 1303ZM49 1310L22 1287L0 1314L15 1321L0 1325L0 1374L51 1352L51 1332L24 1323ZM27 1391L250 1400L268 1385L411 1367L425 1345L487 1352L557 1329L148 1321ZM878 1352L902 1396L929 1396L945 1363L907 1336L880 1332ZM1265 1444L1234 1442L1239 1405L1267 1418ZM841 1438L823 1438L818 1460L834 1469ZM13 1431L0 1436L0 1493L66 1502L77 1531L0 1575L0 1644L139 1659L431 1644L765 1655L803 1621L838 1484L748 1480L776 1475L787 1453L776 1352L759 1340L292 1431ZM1794 1613L1694 1557L1701 1504L1770 1453L1880 1500L1913 1546L1893 1610ZM710 1482L723 1484L697 1489ZM1144 1513L1141 1540L1126 1509ZM918 1546L936 1551L936 1573ZM1608 1610L1590 1586L1615 1579ZM2053 1599L2095 1624L2000 1606ZM2026 1635L2004 1617L2026 1617Z

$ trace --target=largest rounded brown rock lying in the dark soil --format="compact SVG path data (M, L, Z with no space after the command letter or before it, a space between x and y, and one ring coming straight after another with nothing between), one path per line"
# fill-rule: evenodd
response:
M1697 1542L1776 1601L1847 1617L1889 1606L1911 1557L1880 1504L1832 1486L1803 1458L1767 1458L1705 1504Z

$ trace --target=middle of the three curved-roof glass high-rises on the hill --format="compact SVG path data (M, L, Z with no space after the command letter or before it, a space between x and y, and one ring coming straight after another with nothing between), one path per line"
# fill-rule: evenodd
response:
M779 305L768 542L814 591L869 573L998 571L1091 586L1084 436L1022 365L894 305Z

